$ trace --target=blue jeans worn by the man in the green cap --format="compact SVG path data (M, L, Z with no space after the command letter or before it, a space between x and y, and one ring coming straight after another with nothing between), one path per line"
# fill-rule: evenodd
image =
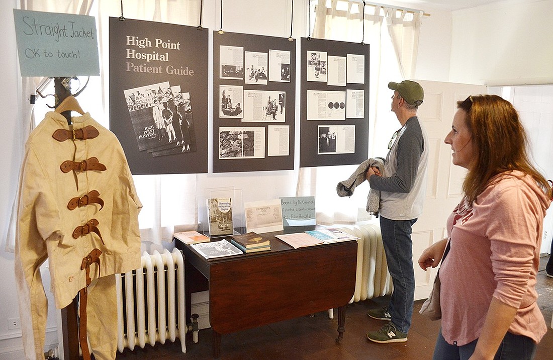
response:
M411 327L415 297L411 227L416 221L417 219L390 220L380 216L382 242L386 252L388 271L394 284L388 312L392 316L392 324L405 333L409 332Z

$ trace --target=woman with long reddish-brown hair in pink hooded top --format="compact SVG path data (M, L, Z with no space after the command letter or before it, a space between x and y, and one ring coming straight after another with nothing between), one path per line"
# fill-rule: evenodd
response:
M497 95L458 101L445 143L468 170L448 239L422 252L440 264L441 329L434 359L531 359L547 331L535 291L551 187L531 164L513 105Z

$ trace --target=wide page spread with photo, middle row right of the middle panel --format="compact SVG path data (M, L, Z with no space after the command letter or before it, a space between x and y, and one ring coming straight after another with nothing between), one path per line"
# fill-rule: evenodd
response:
M244 90L244 118L242 121L284 122L286 93Z

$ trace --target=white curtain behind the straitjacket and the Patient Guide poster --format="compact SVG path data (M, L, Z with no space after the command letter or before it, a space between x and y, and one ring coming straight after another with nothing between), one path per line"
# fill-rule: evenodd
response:
M96 17L100 77L91 77L84 92L77 98L81 107L103 126L109 127L109 17L120 17L121 2L113 0L22 0L20 9L44 12L92 15ZM149 20L163 23L197 26L200 24L200 1L197 0L123 0L123 16L128 19ZM22 78L21 146L14 149L23 158L23 144L35 126L35 119L43 119L53 104L53 98L37 96L36 105L29 104L29 94L48 79ZM83 82L86 81L82 80ZM52 94L53 82L43 93ZM98 106L100 104L101 106ZM17 173L12 176L18 176ZM143 203L139 215L143 250L163 247L163 240L172 241L176 229L188 230L197 227L196 176L194 174L140 175L134 176L138 196ZM15 222L17 221L17 198L12 207L6 250L14 251Z

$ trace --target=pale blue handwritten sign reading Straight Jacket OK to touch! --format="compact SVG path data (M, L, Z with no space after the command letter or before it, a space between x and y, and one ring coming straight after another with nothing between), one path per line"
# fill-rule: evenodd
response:
M22 76L99 76L96 20L13 9Z

